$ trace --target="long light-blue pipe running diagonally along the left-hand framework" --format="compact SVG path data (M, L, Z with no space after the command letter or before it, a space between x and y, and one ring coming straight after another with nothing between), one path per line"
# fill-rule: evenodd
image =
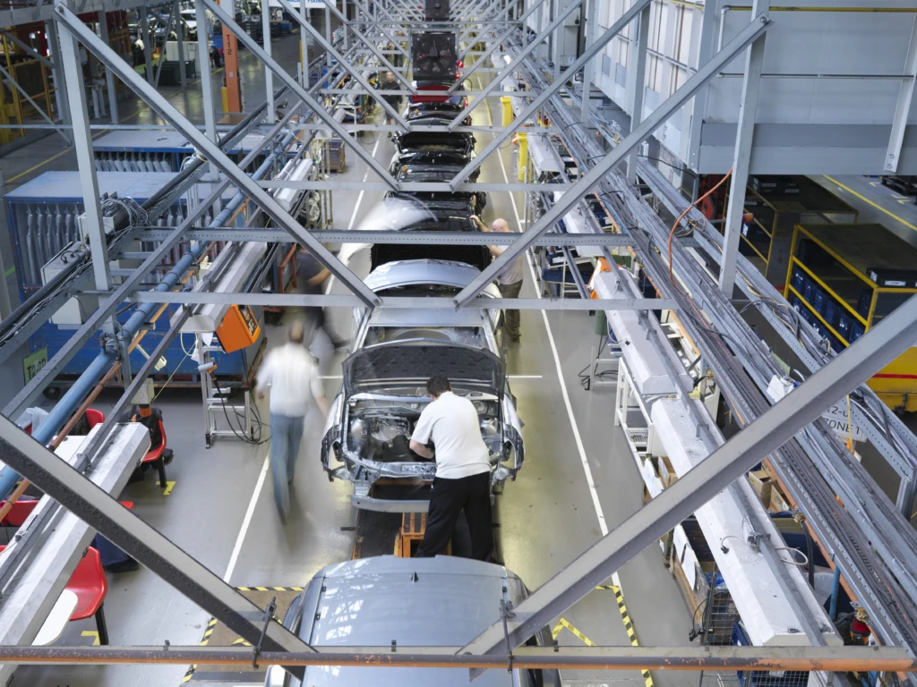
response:
M261 166L255 170L251 175L252 179L258 180L264 177L267 174L271 167L273 166L274 159L279 155L283 154L283 151L293 142L293 134L288 134L284 136L281 145L274 149L271 155L268 155ZM242 191L237 191L236 195L232 197L232 200L226 205L226 208L223 211L216 215L214 221L210 223L210 227L219 227L224 226L233 213L235 213L242 203L246 201L247 196ZM204 252L204 246L206 243L197 242L191 245L191 249L182 256L182 259L175 264L175 267L172 267L169 273L162 278L162 281L157 285L157 291L169 291L174 287L179 279L182 278L185 272L187 272L197 259ZM160 303L142 303L137 311L131 315L130 319L127 320L122 325L122 333L120 336L123 336L127 341L130 341L137 335L140 331L140 327L144 322L147 322L152 316L153 312L160 307ZM105 375L108 369L115 363L118 357L117 350L112 348L106 348L104 351L101 351L94 359L94 361L83 371L83 374L77 377L76 381L73 383L73 386L67 390L67 393L61 397L61 400L58 401L57 405L51 409L48 417L45 419L44 423L39 427L38 430L32 432L32 438L37 442L40 442L42 445L47 445L50 442L54 435L61 429L61 427L66 424L67 420L70 420L72 414L83 404L83 398L86 398L89 395L89 392L99 383L99 380ZM9 493L16 487L16 483L19 480L19 475L16 471L5 467L3 470L0 470L0 494L9 496Z

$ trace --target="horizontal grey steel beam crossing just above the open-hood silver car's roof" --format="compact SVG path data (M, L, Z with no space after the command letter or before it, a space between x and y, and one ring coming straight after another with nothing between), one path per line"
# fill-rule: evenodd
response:
M94 293L86 291L85 293ZM296 293L219 293L215 291L138 291L127 300L135 303L182 303L185 305L259 305L273 307L359 308L363 303L356 296L337 294L304 295ZM453 310L448 299L390 296L381 299L378 309ZM672 300L633 299L492 299L481 297L468 307L498 310L512 308L521 311L664 311L675 307Z

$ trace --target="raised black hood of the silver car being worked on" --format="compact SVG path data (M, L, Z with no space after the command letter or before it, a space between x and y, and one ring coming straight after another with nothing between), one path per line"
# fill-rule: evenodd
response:
M346 398L392 387L424 388L433 375L445 375L457 389L477 389L498 398L505 387L506 368L490 351L465 344L398 341L361 348L343 364Z

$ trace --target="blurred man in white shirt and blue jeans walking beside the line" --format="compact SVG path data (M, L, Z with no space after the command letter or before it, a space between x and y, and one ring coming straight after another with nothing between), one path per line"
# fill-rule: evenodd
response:
M290 485L303 439L309 397L327 417L328 401L318 378L315 358L304 347L303 322L293 322L288 342L264 357L258 371L256 390L264 398L264 389L271 387L271 472L274 478L274 498L281 517L290 513Z

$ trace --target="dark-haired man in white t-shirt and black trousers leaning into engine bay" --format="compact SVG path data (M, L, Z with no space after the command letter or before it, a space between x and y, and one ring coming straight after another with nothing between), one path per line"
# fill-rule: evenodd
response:
M431 376L426 390L433 398L414 427L411 450L433 458L436 477L430 491L426 530L417 557L446 551L458 515L465 510L471 535L471 557L487 561L493 549L491 523L491 457L481 437L478 411L468 398L456 396L445 376Z

